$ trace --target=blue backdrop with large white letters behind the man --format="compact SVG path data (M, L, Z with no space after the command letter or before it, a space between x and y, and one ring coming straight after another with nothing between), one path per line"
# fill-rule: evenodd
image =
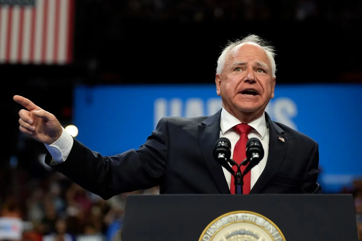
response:
M277 86L266 111L319 143L320 182L337 191L362 176L362 85ZM77 139L102 155L137 149L163 116L212 115L221 108L214 85L78 86Z

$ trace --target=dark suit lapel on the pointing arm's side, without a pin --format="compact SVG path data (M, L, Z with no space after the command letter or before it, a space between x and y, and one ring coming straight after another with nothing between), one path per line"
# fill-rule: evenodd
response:
M203 158L216 186L218 186L221 193L230 194L223 169L212 156L215 143L220 137L220 115L221 110L201 122L198 126L199 142Z

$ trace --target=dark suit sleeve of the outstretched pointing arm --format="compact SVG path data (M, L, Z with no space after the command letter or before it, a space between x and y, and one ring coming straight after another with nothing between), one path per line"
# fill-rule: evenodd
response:
M74 139L72 150L63 163L50 165L49 153L45 162L84 189L109 199L119 193L159 185L166 168L168 143L167 119L162 118L138 150L102 156Z

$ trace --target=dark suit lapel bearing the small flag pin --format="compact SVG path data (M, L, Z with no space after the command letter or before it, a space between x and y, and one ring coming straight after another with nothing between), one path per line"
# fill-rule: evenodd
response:
M283 135L284 130L271 121L268 113L265 112L266 123L269 128L269 151L264 171L256 181L250 193L259 193L268 181L278 171L282 164L288 148L288 140Z

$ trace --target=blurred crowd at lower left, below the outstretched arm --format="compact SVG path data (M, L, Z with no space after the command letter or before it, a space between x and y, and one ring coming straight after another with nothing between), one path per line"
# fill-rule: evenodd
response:
M26 180L0 199L0 240L120 241L129 194L105 201L57 172ZM159 194L159 189L131 194Z

